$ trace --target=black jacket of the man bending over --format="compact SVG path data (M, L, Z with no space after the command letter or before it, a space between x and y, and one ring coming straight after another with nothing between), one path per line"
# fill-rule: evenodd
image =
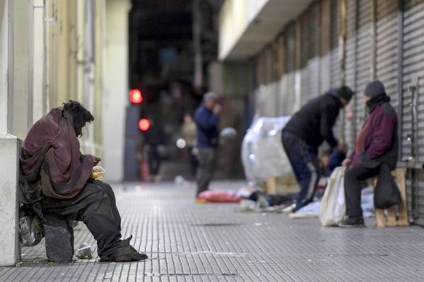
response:
M337 90L330 90L302 106L283 131L300 137L315 150L324 140L330 147L336 147L338 142L333 134L333 126L341 106Z

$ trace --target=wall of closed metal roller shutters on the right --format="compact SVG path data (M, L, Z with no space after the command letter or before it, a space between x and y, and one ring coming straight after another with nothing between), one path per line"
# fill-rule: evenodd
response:
M411 219L424 222L424 1L320 0L252 59L256 111L291 115L346 84L357 93L335 132L353 148L365 119L363 90L378 78L399 116L399 166L407 168Z

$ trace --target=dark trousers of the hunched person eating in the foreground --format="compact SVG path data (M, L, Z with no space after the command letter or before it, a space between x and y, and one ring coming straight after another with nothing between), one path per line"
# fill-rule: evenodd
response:
M98 243L98 254L109 255L121 238L121 216L110 185L89 180L83 190L69 200L47 197L41 202L45 214L83 221Z

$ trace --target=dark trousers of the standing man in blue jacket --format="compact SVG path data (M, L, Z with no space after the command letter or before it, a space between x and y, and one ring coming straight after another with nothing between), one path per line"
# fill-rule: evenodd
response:
M217 154L216 149L213 147L199 148L197 154L197 195L201 192L208 190L209 183L211 182L213 173L216 169Z

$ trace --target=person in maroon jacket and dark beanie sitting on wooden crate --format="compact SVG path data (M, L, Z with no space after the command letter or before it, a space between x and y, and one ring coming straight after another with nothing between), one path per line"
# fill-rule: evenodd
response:
M374 80L365 87L364 95L369 116L356 137L355 152L343 161L343 166L350 166L344 178L348 218L341 227L364 226L361 182L379 175L382 164L394 169L398 158L397 116L384 85Z

